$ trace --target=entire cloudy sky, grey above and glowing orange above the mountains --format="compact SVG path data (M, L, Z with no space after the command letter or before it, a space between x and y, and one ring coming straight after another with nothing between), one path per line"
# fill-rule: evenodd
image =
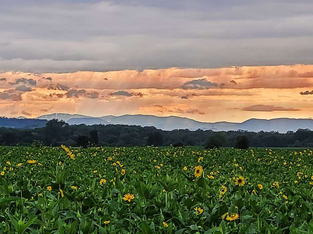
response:
M313 2L0 0L0 111L313 117Z

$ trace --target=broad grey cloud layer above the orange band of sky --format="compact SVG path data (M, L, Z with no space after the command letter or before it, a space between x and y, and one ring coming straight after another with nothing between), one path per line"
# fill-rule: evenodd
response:
M312 8L306 0L3 1L1 70L308 64Z

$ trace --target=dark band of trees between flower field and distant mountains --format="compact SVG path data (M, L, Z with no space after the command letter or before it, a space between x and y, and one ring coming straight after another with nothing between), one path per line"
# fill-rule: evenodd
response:
M213 147L313 147L313 131L298 129L285 134L276 131L248 132L198 129L164 131L136 125L69 125L52 119L44 127L33 129L0 128L0 144L9 146L205 146Z

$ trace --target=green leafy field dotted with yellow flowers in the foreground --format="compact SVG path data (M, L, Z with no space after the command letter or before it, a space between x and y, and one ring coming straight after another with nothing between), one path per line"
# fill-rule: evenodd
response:
M310 149L0 147L0 233L313 233Z

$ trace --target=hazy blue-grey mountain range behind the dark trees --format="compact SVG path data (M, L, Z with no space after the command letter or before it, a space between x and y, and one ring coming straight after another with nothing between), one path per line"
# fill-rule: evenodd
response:
M229 130L247 130L247 131L279 131L281 133L287 131L296 131L297 129L313 129L313 119L248 119L242 123L232 122L215 122L206 123L193 119L178 116L159 117L154 115L107 115L101 117L91 117L86 115L70 115L64 113L54 113L50 115L42 115L36 119L63 119L69 124L126 124L155 126L157 129L173 130L173 129L189 129L189 130L209 130L229 131Z

